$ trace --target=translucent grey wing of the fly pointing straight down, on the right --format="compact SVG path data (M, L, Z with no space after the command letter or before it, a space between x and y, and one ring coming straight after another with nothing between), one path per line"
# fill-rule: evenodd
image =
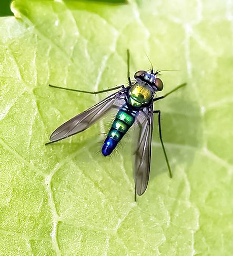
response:
M153 104L136 117L139 131L135 138L134 182L138 195L146 191L149 181L153 121Z

